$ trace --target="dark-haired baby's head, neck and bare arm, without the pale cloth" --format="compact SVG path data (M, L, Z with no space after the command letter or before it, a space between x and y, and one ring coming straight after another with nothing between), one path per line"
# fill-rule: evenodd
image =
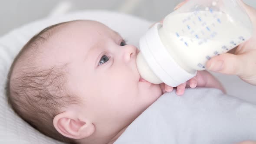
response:
M16 56L7 82L9 103L34 128L59 141L112 144L172 90L141 79L137 54L135 46L96 21L50 26ZM223 90L206 71L189 82ZM178 86L177 93L185 86Z

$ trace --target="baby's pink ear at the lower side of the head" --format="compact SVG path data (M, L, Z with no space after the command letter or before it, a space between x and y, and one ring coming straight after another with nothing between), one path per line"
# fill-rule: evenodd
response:
M71 111L64 111L55 116L53 125L60 134L73 139L89 137L95 131L95 126L87 119L79 119Z

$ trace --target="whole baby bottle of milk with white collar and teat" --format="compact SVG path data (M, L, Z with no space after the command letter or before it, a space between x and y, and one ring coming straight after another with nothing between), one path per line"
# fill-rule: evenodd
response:
M175 87L252 32L240 0L189 0L141 37L137 68L148 82Z

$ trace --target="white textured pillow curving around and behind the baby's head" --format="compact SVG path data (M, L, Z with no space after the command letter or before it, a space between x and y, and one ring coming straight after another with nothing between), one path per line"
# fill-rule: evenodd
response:
M14 57L33 35L47 26L78 19L102 22L135 46L138 46L138 39L153 23L135 16L109 11L80 11L38 20L2 36L0 38L0 144L62 144L39 133L19 118L7 105L4 86ZM228 93L256 103L256 97L253 97L256 93L255 87L242 82L236 76L217 75L217 77L223 82Z

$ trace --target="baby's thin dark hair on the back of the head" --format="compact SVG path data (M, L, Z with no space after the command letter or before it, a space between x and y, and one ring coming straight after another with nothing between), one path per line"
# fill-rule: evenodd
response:
M26 122L49 137L73 144L74 140L62 136L53 126L53 118L62 112L61 108L79 103L66 88L68 64L45 68L35 62L43 44L67 23L43 29L23 46L11 65L6 93L13 110Z

